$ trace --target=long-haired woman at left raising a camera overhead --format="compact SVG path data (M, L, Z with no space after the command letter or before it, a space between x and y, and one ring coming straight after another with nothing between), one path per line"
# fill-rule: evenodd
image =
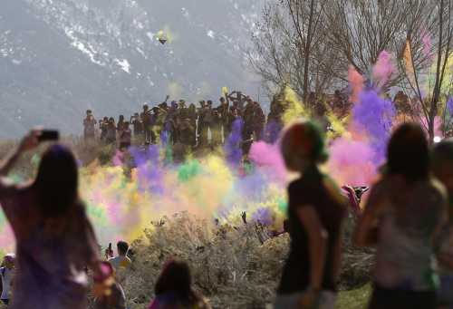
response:
M17 273L10 308L84 309L85 269L96 270L99 257L77 192L78 169L72 151L54 144L43 153L35 179L16 185L5 178L43 137L43 131L32 131L0 165L0 204L16 240Z

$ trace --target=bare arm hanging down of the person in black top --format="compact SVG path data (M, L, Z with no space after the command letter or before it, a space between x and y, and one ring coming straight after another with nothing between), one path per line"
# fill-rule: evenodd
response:
M326 258L327 231L324 229L316 211L311 206L297 209L297 217L308 235L310 253L310 288L319 291L323 283Z

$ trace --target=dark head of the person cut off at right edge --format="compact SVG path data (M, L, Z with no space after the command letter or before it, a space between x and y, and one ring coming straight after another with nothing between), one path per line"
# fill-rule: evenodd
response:
M432 151L431 168L453 198L453 139L442 140Z

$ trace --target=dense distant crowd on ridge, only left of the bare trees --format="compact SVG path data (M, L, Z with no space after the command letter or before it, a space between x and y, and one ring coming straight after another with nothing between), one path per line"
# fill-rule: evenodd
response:
M276 102L266 120L260 103L242 92L225 94L216 107L211 100L199 101L198 107L184 100L170 103L168 100L169 97L153 107L144 103L142 111L131 115L129 121L124 115L116 122L113 117L97 121L89 110L83 120L84 137L86 140L99 138L120 149L129 147L134 138L145 145L161 142L180 144L188 149L215 148L226 142L236 125L240 127L236 130L240 132L246 152L253 140L275 141L283 128L283 109ZM266 123L272 123L272 130L265 130Z

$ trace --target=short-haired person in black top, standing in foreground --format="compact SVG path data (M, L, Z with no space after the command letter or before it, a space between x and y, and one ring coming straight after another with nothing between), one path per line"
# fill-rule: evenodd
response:
M346 200L318 169L327 154L313 122L298 121L285 130L282 153L287 169L302 177L288 187L291 246L275 309L333 308Z

